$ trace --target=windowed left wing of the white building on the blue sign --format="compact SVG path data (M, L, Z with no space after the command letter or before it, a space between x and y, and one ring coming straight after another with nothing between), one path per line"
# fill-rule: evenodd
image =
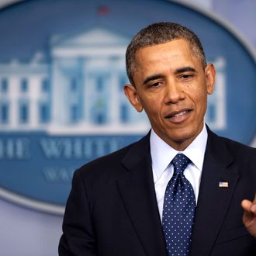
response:
M0 64L1 130L42 130L50 121L48 64L36 54L30 62Z

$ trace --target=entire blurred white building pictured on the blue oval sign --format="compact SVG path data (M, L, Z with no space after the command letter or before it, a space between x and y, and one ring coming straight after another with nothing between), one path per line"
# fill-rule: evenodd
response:
M28 63L0 63L0 130L47 133L145 133L147 116L123 93L125 51L130 42L112 29L95 26L54 36L47 53ZM50 57L46 57L50 56ZM206 122L226 125L224 61L215 61L217 85Z

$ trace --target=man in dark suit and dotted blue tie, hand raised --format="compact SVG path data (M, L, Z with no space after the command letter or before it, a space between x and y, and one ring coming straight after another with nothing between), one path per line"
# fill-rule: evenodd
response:
M127 48L126 69L126 97L138 112L144 109L152 129L75 171L59 254L256 255L256 150L218 137L204 123L215 69L198 37L175 23L152 24ZM184 246L177 245L184 239L179 230L163 232L177 154L189 164L176 181L193 191L185 251L174 249Z

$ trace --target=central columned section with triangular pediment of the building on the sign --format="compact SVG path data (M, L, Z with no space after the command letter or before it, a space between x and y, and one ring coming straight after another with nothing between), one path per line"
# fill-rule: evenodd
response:
M127 82L125 51L129 39L106 28L55 37L53 57L53 121L57 127L112 130L146 124L123 94Z

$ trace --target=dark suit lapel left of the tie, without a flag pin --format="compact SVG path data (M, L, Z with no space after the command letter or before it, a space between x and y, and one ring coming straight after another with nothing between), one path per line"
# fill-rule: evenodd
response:
M116 185L145 254L166 255L154 192L149 135L134 144L122 164L127 171Z

